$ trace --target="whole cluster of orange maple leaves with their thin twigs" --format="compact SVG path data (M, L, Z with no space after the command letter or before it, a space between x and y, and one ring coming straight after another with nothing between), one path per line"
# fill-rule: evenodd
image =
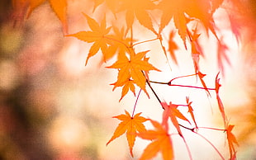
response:
M12 0L14 8L28 8L27 16L30 16L31 12L45 1L46 0ZM88 14L83 13L83 16L88 22L90 30L79 31L78 33L74 34L67 34L67 2L65 0L49 0L49 2L53 11L63 24L65 36L73 36L78 40L92 43L86 59L86 64L88 64L88 60L92 58L92 56L100 52L102 53L102 59L104 62L107 62L109 59L116 58L116 62L107 68L114 68L118 72L116 82L112 83L111 85L114 86L113 90L116 87L122 87L120 101L129 91L136 95L136 87L138 87L140 91L144 91L145 94L149 96L146 89L146 86L148 86L151 92L154 93L154 96L158 99L159 106L162 107L161 110L163 110L163 119L161 123L151 120L150 118L145 118L140 115L141 113L135 114L136 105L134 106L132 115L126 111L125 115L114 116L113 118L121 120L121 123L117 126L113 136L107 142L107 144L126 133L131 156L133 156L132 149L135 145L135 139L140 137L141 139L151 140L151 143L145 148L145 151L142 153L140 159L154 158L157 153L162 153L164 159L173 159L172 134L177 132L187 146L182 129L189 129L195 134L198 134L197 129L211 129L197 126L197 120L193 114L192 101L189 100L188 96L186 96L186 105L177 105L173 104L172 102L167 103L164 100L160 100L158 94L154 92L154 88L151 86L151 83L160 83L167 86L203 89L206 91L208 96L211 96L211 91L216 92L216 101L224 121L224 129L216 130L225 131L230 148L230 159L235 159L236 150L234 144L238 143L235 139L235 135L231 132L234 125L229 125L225 115L224 105L220 99L219 73L216 75L216 87L209 88L206 87L206 82L204 82L203 79L206 74L201 73L199 67L199 60L203 56L203 52L201 45L199 44L198 37L205 32L206 35L209 35L211 32L211 34L216 37L218 46L217 58L219 60L220 70L223 71L223 60L229 63L229 59L225 54L227 46L222 42L221 38L219 38L217 32L218 30L216 29L213 18L213 14L219 7L221 7L221 5L223 5L225 2L224 0L92 0L92 2L94 2L94 8L92 8L93 12L97 10L97 7L104 5L107 10L112 12L117 19L120 18L119 13L123 13L122 16L125 17L125 21L123 21L124 25L121 27L116 26L115 24L107 26L107 23L110 23L110 21L107 21L104 12L102 13L102 21L100 22L92 16L88 16ZM239 2L239 0L235 2ZM154 14L155 12L157 12L157 14ZM116 16L117 14L118 16ZM133 31L136 30L134 27L136 20L142 27L145 27L148 31L153 33L154 37L152 39L136 42L135 39L137 37L135 37L133 34ZM153 20L155 22L153 22ZM156 22L157 20L159 20L159 24ZM166 26L168 26L170 21L173 21L175 28L169 31L170 34L168 37L169 39L167 40L167 51L163 45L164 39L162 37L163 31L165 30ZM197 27L199 25L202 26L200 30ZM176 31L178 32L181 40L183 40L184 48L191 49L190 53L192 54L191 58L194 64L195 73L173 78L169 82L150 81L149 71L160 70L159 68L154 67L153 64L150 64L149 57L146 57L146 54L149 53L150 49L136 52L136 46L143 45L150 41L159 40L159 49L164 52L166 58L168 59L168 55L170 55L173 62L178 64L178 59L175 55L175 50L178 49L178 45L173 39ZM237 30L235 30L234 33L236 36L239 36L239 32ZM187 45L190 45L190 47L187 47ZM201 87L173 84L173 80L175 79L192 76L200 79ZM139 96L140 92L137 95L137 98L139 98ZM183 115L183 113L179 110L180 106L187 107L187 112L191 117L188 118ZM192 121L189 119L192 119ZM154 126L154 129L145 128L144 123L148 120ZM187 121L192 128L180 125L180 120ZM173 125L176 130L170 131L170 125ZM201 134L199 135L205 139ZM209 142L207 139L206 141ZM209 143L211 144L211 142ZM220 154L220 158L224 159L218 149L213 144L211 145L216 149L216 152ZM192 158L188 146L187 150L190 158Z

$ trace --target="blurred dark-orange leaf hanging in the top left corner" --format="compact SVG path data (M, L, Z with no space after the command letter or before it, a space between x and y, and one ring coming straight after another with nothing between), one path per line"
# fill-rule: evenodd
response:
M39 7L43 2L47 0L12 0L12 5L14 9L21 9L21 7L28 7L27 17L31 15L36 7ZM66 0L48 0L50 2L50 7L53 9L55 14L58 16L59 20L62 22L64 28L64 34L68 32L67 24L67 2ZM26 4L26 5L24 5ZM22 16L25 16L22 15Z

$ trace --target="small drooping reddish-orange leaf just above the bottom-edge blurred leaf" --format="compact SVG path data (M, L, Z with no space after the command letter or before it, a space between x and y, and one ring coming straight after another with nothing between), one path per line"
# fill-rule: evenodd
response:
M170 102L168 105L165 101L161 102L161 104L164 107L163 122L162 122L163 126L168 129L168 117L170 117L170 119L173 122L174 127L178 131L178 134L181 137L183 137L183 134L179 127L177 118L179 118L181 120L185 120L190 124L189 120L187 120L187 118L180 111L178 111L178 109L177 109L178 105L172 104L172 102Z

